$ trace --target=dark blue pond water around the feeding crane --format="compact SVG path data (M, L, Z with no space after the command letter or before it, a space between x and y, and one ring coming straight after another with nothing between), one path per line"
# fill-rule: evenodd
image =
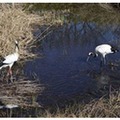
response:
M109 86L119 88L120 53L107 55L107 65L102 67L99 57L86 62L88 53L99 44L109 43L119 48L119 28L71 22L52 29L37 51L43 57L27 62L24 68L26 76L35 73L45 86L39 102L51 104L85 94L100 97L109 91Z

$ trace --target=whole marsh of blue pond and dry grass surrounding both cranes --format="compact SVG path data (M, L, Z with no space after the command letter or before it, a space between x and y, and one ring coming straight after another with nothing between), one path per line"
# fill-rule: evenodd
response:
M10 115L1 110L0 116L119 117L120 52L107 55L103 66L99 57L86 61L100 44L120 50L119 4L27 3L17 4L19 9L4 5L3 16L8 19L1 17L5 31L0 34L1 55L12 50L5 40L11 43L16 37L21 53L13 67L16 81L1 82L8 90L1 87L1 93L16 96L16 103L20 94L26 106L13 109ZM1 72L2 80L5 72Z

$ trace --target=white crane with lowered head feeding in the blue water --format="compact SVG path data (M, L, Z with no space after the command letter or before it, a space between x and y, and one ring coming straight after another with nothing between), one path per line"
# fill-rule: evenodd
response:
M106 63L105 56L107 54L116 53L118 51L119 50L117 48L115 48L109 44L101 44L95 48L94 52L89 52L87 61L89 60L90 56L97 57L98 55L100 55L101 61L103 61L103 63L105 64Z

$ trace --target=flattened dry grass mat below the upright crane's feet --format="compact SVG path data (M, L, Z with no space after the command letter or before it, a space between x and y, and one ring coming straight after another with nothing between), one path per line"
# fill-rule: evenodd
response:
M13 104L19 107L40 106L36 99L44 87L38 81L28 80L21 76L19 80L15 79L12 84L6 84L5 79L0 82L0 102L2 104Z

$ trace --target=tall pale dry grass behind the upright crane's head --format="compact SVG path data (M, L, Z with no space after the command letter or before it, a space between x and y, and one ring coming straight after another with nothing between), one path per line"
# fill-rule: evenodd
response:
M31 52L36 43L33 26L51 26L61 22L53 19L53 16L52 12L39 15L26 12L23 4L0 4L0 56L4 57L14 52L15 40L19 41L21 59L35 56Z

